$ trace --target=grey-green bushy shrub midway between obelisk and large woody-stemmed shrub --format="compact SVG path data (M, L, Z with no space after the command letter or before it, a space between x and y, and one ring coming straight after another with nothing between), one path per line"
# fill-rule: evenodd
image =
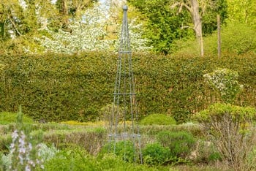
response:
M185 158L195 146L195 138L190 132L162 131L157 134L157 141L170 149L171 156Z

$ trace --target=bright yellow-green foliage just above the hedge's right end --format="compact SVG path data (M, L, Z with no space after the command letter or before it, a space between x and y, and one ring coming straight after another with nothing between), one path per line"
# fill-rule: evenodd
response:
M221 51L222 54L232 53L234 55L243 55L246 53L256 53L255 28L244 25L240 21L228 22L222 26L221 31ZM204 51L206 56L216 55L217 51L217 31L208 37L204 37ZM198 53L197 42L194 39L185 41L177 40L173 43L175 56L190 54L196 56Z

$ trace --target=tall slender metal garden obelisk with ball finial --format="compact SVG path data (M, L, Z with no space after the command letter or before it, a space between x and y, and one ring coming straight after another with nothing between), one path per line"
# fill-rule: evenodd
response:
M127 159L131 156L127 155L126 150L131 150L132 146L133 160L142 162L140 132L137 124L138 109L135 99L135 80L132 72L132 51L127 23L128 7L125 5L123 10L116 83L113 94L112 115L110 117L110 133L108 136L112 147L111 150L114 153L119 143L124 151L123 158Z

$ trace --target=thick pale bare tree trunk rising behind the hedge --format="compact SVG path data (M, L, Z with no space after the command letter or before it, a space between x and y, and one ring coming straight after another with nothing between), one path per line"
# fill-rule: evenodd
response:
M200 45L200 55L203 56L203 34L202 34L202 21L199 14L199 4L197 0L190 0L192 22L194 24L195 36L197 37L198 44Z

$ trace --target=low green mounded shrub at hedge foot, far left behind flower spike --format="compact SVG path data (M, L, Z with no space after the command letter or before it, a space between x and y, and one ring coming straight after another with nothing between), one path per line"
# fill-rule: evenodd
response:
M0 113L0 124L6 125L10 123L16 123L18 114L17 113ZM29 118L26 115L23 115L23 123L34 123L33 119Z

